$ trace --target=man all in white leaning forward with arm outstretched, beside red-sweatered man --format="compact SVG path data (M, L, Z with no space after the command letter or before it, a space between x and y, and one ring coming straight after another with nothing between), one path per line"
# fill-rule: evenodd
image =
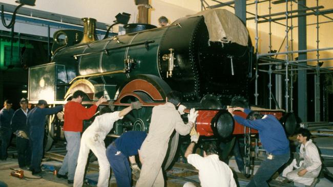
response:
M73 186L83 185L90 150L98 159L99 176L97 186L109 186L110 165L106 155L104 139L113 128L114 122L122 119L132 109L141 108L141 105L139 102L132 102L131 106L116 112L112 112L109 107L101 109L101 115L96 116L94 122L82 134Z

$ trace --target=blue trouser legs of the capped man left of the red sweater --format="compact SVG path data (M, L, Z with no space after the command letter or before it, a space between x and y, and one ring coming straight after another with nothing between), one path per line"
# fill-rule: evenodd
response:
M40 162L43 158L43 141L44 141L44 128L38 126L30 127L30 147L31 147L31 167L30 169L35 172L40 172Z

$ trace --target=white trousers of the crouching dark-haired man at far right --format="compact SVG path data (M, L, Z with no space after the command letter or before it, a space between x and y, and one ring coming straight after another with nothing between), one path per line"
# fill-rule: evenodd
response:
M287 179L292 180L294 182L297 183L301 183L304 185L311 185L311 183L314 181L314 179L316 177L318 177L318 175L314 175L311 172L306 172L305 175L303 176L298 176L298 172L305 169L304 167L297 167L296 166L296 159L293 160L292 163L290 163L289 166L287 166L283 172L282 172L282 176L283 177L287 177ZM302 166L303 161L300 162L300 166ZM294 170L294 168L296 170Z

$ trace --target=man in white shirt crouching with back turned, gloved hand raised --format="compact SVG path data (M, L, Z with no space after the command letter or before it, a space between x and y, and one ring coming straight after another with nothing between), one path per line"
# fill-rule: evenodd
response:
M192 132L192 131L191 131ZM213 143L203 146L203 157L192 154L198 142L199 133L191 135L191 144L186 149L185 157L199 170L199 179L202 187L236 187L234 174L226 163L219 159L217 147ZM195 187L192 182L186 182L183 187Z

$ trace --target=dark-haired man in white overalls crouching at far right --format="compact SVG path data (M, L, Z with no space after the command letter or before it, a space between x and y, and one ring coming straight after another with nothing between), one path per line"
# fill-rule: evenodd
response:
M310 139L310 136L311 133L309 130L303 128L299 130L297 134L297 140L301 143L299 158L304 160L299 161L294 158L293 162L282 172L283 177L304 185L317 183L317 177L321 170L319 152L312 139Z

